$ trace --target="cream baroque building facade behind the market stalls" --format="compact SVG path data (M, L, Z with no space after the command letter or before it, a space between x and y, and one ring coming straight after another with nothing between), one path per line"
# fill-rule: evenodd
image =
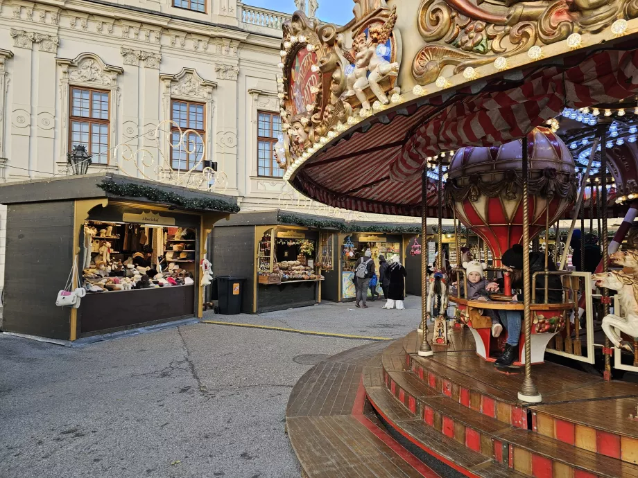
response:
M237 0L1 1L0 180L70 174L80 144L89 173L175 168L243 210L349 214L300 197L273 158L289 18ZM5 223L0 209L0 278Z

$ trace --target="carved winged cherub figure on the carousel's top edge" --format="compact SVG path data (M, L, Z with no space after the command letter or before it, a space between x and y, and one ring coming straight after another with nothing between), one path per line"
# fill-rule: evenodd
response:
M392 30L397 21L396 7L384 24L377 24L368 28L368 36L365 32L359 33L354 38L352 55L347 55L350 61L354 60L354 69L347 73L347 91L345 98L356 96L361 102L363 109L370 109L370 101L365 89L370 87L374 96L377 96L383 105L390 103L388 96L379 86L379 82L388 76L397 76L399 72L399 64L397 62L390 63L383 58L383 53L377 51L378 48L385 48L388 38L392 34ZM368 75L370 72L370 75Z

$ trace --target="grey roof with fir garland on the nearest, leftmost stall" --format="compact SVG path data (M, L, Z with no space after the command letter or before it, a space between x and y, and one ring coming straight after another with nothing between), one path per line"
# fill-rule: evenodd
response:
M0 204L83 200L105 197L163 204L189 211L239 212L235 197L173 186L111 172L0 184Z

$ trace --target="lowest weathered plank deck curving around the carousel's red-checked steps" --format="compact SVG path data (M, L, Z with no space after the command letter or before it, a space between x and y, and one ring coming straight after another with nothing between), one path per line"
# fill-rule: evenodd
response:
M379 351L386 346L375 343L329 357L295 384L286 409L286 431L303 477L441 476L363 414L363 375L370 384L383 387Z

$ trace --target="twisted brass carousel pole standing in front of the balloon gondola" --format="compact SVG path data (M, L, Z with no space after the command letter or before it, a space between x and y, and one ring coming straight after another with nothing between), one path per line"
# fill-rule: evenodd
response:
M532 326L531 326L531 287L529 270L529 172L527 136L523 136L523 305L525 327L525 379L518 393L519 400L537 403L542 400L532 379Z

